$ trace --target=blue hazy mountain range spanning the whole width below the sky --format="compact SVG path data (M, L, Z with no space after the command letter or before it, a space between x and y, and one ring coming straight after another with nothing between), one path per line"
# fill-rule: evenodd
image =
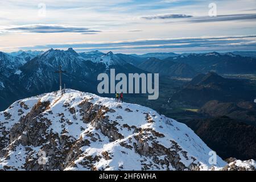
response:
M153 56L153 54L146 54ZM0 109L5 109L19 98L51 92L59 88L58 75L62 66L63 82L69 88L96 93L97 75L109 73L115 68L117 73L159 73L164 76L193 78L197 73L216 71L217 73L255 73L256 60L252 57L236 56L232 53L190 53L171 55L165 59L138 55L103 53L100 51L77 53L72 48L67 51L49 49L43 51L0 52ZM163 58L163 57L162 57ZM13 97L9 97L13 95ZM8 99L6 99L8 98Z

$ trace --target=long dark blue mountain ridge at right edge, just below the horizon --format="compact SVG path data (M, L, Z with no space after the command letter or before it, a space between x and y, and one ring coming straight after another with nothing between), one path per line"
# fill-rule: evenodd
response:
M232 53L191 53L171 57L176 63L190 65L195 71L207 73L214 71L220 74L243 74L256 73L256 59L243 57Z

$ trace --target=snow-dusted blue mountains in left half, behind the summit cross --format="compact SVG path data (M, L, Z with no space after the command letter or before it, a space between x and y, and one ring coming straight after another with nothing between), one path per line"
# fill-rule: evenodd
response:
M114 55L113 52L94 51L79 54L72 48L67 51L49 49L46 52L40 52L29 61L6 53L2 53L2 55L1 63L3 64L0 69L5 70L0 75L2 77L0 85L2 96L7 96L11 91L14 96L19 96L18 98L51 92L59 88L59 76L55 73L59 69L59 65L64 71L67 71L63 74L63 82L67 87L93 93L97 91L98 74L109 73L111 68L115 68L116 73L144 72ZM89 58L86 58L85 55ZM10 87L12 90L7 89ZM13 102L16 99L17 97L11 99L9 97L8 100ZM1 109L10 104L6 103L3 98L2 101Z

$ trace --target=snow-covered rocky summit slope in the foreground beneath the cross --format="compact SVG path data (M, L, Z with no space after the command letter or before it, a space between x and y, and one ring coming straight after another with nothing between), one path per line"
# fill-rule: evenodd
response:
M0 168L209 169L210 148L186 125L148 107L66 90L14 102L0 113ZM46 165L38 164L39 151ZM225 162L217 156L217 167Z

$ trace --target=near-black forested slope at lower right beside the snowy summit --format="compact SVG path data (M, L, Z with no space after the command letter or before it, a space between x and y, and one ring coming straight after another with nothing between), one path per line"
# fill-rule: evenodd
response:
M194 119L187 125L222 159L256 159L256 127L238 121L219 117Z

